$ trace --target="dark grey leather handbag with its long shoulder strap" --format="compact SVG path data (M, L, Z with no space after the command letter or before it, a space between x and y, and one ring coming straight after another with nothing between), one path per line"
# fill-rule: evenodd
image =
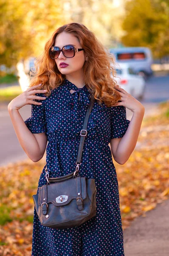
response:
M90 104L80 132L75 172L61 177L49 177L45 167L47 184L39 187L37 195L32 195L39 221L45 227L54 229L76 227L96 216L95 180L79 175L82 150L87 135L87 122L94 101L94 97L90 96Z

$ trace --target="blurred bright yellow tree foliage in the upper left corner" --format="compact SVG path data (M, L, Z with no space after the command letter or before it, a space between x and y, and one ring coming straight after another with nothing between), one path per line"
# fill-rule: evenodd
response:
M45 41L61 21L59 0L0 0L0 64L18 61L42 52Z

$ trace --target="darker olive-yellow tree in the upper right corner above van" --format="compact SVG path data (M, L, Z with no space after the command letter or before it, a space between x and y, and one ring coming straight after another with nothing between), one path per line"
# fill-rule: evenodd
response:
M169 0L131 0L122 23L125 46L149 47L155 58L169 54Z

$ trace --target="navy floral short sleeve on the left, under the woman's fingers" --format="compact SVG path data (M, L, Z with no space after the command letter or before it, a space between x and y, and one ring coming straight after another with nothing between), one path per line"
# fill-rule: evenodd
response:
M36 96L42 96L45 95L43 93L36 93ZM25 125L28 127L28 129L31 131L31 133L41 133L45 132L46 130L46 118L45 118L45 99L34 99L36 102L42 102L41 105L35 105L31 104L31 117L26 119Z

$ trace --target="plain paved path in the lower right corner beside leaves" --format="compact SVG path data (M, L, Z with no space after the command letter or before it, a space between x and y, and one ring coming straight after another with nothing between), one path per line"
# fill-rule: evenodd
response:
M124 230L125 256L169 256L169 200Z

